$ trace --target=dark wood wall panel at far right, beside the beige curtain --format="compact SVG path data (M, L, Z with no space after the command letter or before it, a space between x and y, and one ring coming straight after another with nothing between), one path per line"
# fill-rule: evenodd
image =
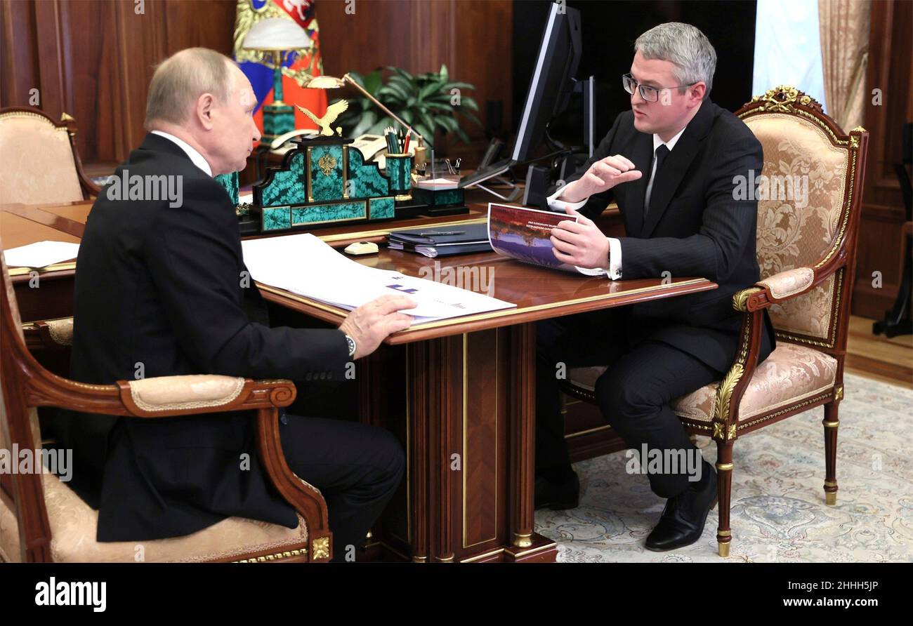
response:
M900 162L901 126L913 121L910 32L913 32L913 3L906 0L872 3L863 122L871 136L853 287L853 313L866 318L882 318L893 306L901 276L900 227L907 218L894 164ZM881 91L880 104L873 101L873 89ZM873 286L873 272L881 272L881 287Z

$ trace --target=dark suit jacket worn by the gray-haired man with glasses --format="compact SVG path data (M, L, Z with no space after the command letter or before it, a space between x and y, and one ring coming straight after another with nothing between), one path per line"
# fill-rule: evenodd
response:
M653 159L653 136L635 129L634 114L619 115L593 157L568 183L580 178L595 161L621 154L642 172L639 180L622 183L590 197L581 213L601 214L618 203L627 236L621 237L622 277L703 276L719 288L682 297L636 304L631 331L664 341L719 371L729 370L735 357L741 316L732 295L760 280L755 241L758 203L733 198L733 177L760 174L761 142L749 128L709 99L656 172L650 210L644 219L644 196ZM554 193L554 189L549 193ZM773 350L773 329L764 312L761 360Z

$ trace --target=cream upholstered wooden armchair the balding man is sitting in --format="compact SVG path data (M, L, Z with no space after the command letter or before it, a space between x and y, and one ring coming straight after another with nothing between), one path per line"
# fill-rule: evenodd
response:
M21 474L0 467L0 561L252 562L331 558L326 502L320 491L292 473L282 454L278 407L289 406L295 400L291 381L199 375L89 385L61 378L45 370L26 349L16 294L2 250L0 242L0 451L9 451L3 456L40 449L38 406L146 419L194 419L195 413L250 410L251 419L257 421L260 463L279 494L298 511L299 527L229 517L185 537L100 543L96 541L98 511L56 475L43 466L41 473ZM27 328L47 333L60 344L72 338L72 318ZM4 462L3 456L0 463ZM137 551L141 544L142 558Z

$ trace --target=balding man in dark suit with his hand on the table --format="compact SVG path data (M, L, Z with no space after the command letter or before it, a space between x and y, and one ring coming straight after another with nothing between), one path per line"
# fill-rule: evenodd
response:
M205 373L343 381L347 363L409 326L397 311L415 303L385 297L352 311L340 329L269 327L235 207L213 178L245 167L260 137L256 102L240 69L212 50L183 50L156 69L150 133L115 172L130 184L102 190L79 246L75 380ZM326 498L334 558L344 558L399 485L402 447L360 423L282 412L279 428L289 467ZM257 461L251 412L157 420L69 413L55 430L73 450L72 485L99 509L99 541L184 536L226 516L298 526Z

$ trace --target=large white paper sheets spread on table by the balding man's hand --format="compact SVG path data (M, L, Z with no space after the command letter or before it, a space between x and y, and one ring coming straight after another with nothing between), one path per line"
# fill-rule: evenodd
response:
M241 246L257 282L349 310L377 297L403 295L418 303L403 313L421 324L517 306L433 280L362 266L310 233L251 239Z

